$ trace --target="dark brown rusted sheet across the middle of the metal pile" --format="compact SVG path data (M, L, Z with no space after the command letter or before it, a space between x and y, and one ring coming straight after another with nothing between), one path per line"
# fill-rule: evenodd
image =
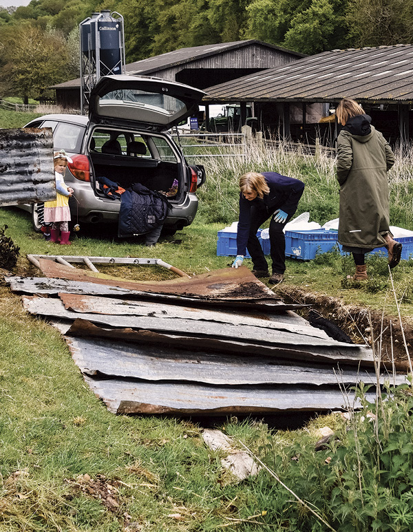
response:
M52 321L54 323L54 321ZM59 329L60 330L60 329ZM187 334L171 334L165 332L153 332L149 330L125 329L105 329L90 321L78 318L65 333L70 336L84 338L106 338L110 340L120 340L136 345L151 344L167 346L180 350L203 350L232 355L251 355L255 357L274 357L284 359L290 363L308 361L308 363L328 363L339 361L344 365L357 365L363 368L374 368L372 350L364 345L350 345L346 350L340 350L334 346L314 346L307 349L305 345L260 345L248 341L238 341L237 339L215 339L191 336L191 331ZM407 372L407 363L399 363L396 370ZM388 368L391 372L392 368Z

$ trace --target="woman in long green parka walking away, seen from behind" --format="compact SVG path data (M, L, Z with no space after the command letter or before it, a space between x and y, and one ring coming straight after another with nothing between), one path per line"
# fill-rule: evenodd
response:
M393 240L389 222L388 170L394 154L371 118L354 100L344 98L336 109L343 126L337 139L337 180L340 184L339 243L352 253L353 280L367 279L366 253L385 246L390 268L397 266L401 244Z

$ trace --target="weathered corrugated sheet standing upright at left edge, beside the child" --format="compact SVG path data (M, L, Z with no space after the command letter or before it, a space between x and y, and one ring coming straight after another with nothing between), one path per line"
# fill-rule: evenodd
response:
M54 198L52 129L0 129L0 206Z

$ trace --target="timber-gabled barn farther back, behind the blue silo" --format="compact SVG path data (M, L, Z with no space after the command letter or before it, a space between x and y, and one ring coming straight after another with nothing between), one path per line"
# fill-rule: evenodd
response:
M235 43L221 43L181 48L167 54L149 57L126 65L125 74L157 76L186 83L198 89L225 83L246 74L255 74L270 67L279 67L305 57L304 54L279 46L250 39ZM80 78L59 85L56 104L64 108L80 109Z

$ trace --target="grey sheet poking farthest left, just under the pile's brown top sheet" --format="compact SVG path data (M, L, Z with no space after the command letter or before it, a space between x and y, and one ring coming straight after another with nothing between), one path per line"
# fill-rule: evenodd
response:
M66 292L70 294L84 295L109 295L113 297L138 297L139 299L162 300L163 302L171 301L173 304L191 304L191 306L218 306L219 308L242 308L247 310L260 310L260 312L286 312L286 310L296 310L305 308L310 305L302 304L284 304L277 299L251 299L251 300L229 300L229 299L199 299L187 295L171 295L156 292L143 292L142 290L131 290L129 288L120 288L96 284L83 281L70 281L67 279L53 279L48 277L19 277L10 276L5 278L6 283L10 284L13 292L27 294L58 294Z

